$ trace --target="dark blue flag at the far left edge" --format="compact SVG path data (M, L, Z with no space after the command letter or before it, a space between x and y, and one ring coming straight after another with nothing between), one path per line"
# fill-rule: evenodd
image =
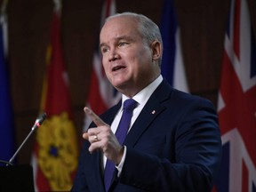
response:
M6 4L3 3L2 6L5 7ZM0 16L0 159L8 162L14 154L15 141L6 41L7 15L4 11Z

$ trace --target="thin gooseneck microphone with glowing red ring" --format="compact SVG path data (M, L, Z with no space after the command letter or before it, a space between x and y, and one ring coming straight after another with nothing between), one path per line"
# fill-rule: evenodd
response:
M43 113L41 116L38 116L36 118L35 124L33 125L33 127L31 128L31 131L28 133L28 136L25 138L25 140L23 140L23 142L20 144L20 147L16 150L16 152L14 153L14 155L12 156L12 158L9 160L9 162L6 162L6 166L8 165L12 165L12 161L14 160L14 158L18 155L18 153L20 152L20 149L24 146L24 144L27 142L28 138L30 137L30 135L36 130L37 127L40 127L44 120L46 118L46 113ZM4 161L3 161L4 162Z

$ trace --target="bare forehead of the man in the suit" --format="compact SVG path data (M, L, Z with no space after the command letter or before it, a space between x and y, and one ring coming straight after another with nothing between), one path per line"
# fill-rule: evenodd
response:
M100 31L100 42L116 39L120 36L140 36L138 21L131 17L116 17L108 20Z

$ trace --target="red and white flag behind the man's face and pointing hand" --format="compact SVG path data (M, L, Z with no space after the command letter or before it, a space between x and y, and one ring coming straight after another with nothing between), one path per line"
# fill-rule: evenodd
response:
M100 28L103 26L105 19L116 13L115 0L106 0L102 12ZM108 108L112 107L121 99L120 93L109 83L105 75L104 68L101 64L100 47L97 46L93 55L91 85L88 93L86 106L92 108L96 114L101 114ZM91 124L91 119L84 117L84 131Z

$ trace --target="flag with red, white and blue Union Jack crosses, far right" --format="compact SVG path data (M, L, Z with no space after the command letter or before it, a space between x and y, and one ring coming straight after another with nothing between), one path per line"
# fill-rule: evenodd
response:
M246 0L231 0L218 100L218 192L256 192L256 46Z

